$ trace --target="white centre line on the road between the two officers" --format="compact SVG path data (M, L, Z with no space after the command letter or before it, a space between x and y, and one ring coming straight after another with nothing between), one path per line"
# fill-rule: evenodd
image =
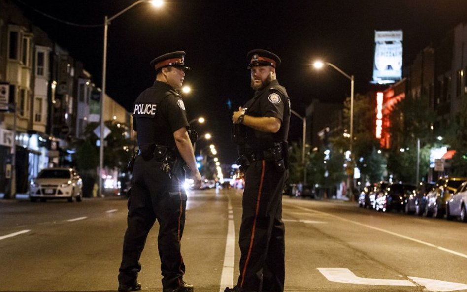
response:
M233 213L230 197L228 197L229 214ZM224 266L222 268L221 286L219 292L224 292L226 287L234 286L234 262L235 262L235 225L234 215L229 215L229 226L227 228L226 251L224 255Z

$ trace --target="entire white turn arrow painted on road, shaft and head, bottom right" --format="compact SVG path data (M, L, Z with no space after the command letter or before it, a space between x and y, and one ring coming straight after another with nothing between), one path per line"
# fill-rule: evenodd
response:
M360 285L383 285L383 286L416 286L409 280L373 279L357 277L349 269L345 268L318 268L318 271L331 282L360 284ZM407 277L420 286L425 286L428 291L456 291L467 289L467 284L447 282L418 277Z

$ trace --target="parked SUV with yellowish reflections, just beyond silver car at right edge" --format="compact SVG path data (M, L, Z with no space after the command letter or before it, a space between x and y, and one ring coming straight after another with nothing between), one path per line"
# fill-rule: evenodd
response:
M427 205L423 215L426 217L442 218L446 214L446 203L465 181L467 181L465 177L446 177L440 179L437 187L426 196Z

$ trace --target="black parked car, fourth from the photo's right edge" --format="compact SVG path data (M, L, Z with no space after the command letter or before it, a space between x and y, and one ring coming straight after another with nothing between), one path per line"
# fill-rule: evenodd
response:
M376 210L404 210L406 198L416 194L417 186L410 184L391 184L376 197Z

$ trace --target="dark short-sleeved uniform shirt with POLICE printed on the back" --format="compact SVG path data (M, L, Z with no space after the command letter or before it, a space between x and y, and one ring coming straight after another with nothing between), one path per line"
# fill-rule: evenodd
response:
M144 90L133 106L133 130L139 149L153 150L154 144L175 147L173 132L188 124L181 96L167 83L155 81Z

